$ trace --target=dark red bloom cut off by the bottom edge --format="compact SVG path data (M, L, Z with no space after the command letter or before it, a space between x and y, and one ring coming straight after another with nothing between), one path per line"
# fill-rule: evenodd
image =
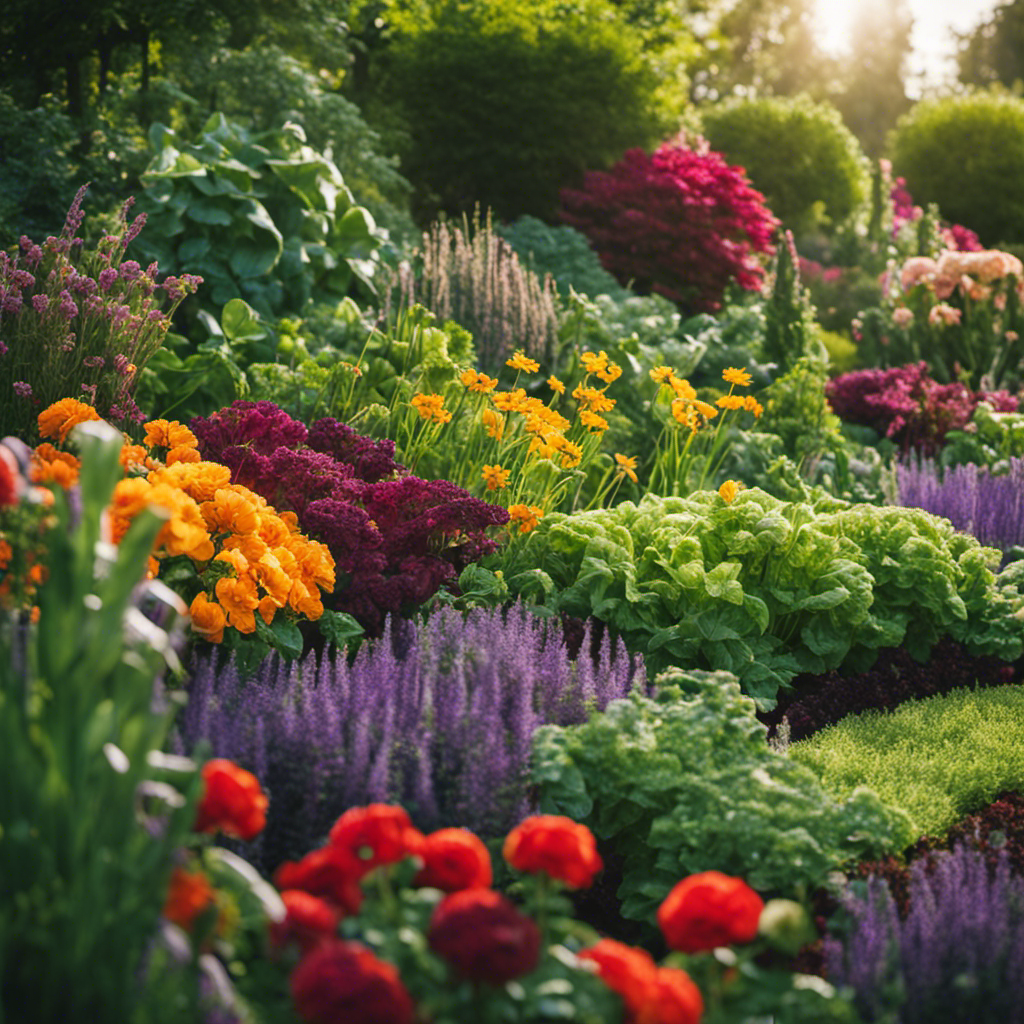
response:
M308 1024L413 1024L415 1008L398 972L355 942L332 939L292 972L292 1001Z

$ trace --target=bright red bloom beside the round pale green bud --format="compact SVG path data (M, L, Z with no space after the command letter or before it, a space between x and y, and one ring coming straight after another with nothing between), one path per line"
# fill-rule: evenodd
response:
M742 879L705 871L683 879L658 907L657 923L673 949L695 953L758 934L764 902Z

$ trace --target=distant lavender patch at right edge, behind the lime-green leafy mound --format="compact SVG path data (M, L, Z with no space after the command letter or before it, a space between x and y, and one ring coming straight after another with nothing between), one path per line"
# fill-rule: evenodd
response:
M1024 459L1008 461L1001 475L973 463L944 471L931 459L898 463L899 504L944 516L988 547L1024 545Z

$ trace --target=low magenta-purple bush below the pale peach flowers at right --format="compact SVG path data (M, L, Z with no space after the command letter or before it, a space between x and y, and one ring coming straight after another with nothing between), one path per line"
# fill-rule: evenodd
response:
M1017 398L1006 391L939 384L924 361L843 374L825 385L825 396L840 419L870 427L903 452L922 455L933 455L950 430L962 430L979 401L998 412L1017 409Z

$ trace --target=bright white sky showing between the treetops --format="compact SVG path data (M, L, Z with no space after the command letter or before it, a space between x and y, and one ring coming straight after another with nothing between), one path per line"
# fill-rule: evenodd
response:
M822 45L834 53L842 52L853 12L865 0L816 0ZM987 19L1001 0L908 0L913 17L910 43L912 91L941 85L955 74L955 43L950 28L968 32Z

